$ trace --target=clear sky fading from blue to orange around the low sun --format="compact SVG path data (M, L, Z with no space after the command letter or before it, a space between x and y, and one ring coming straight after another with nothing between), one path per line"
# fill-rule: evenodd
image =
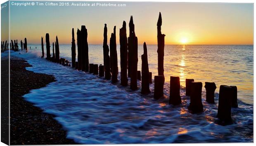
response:
M129 34L128 23L133 16L138 43L157 44L156 23L161 12L165 44L253 44L253 4L111 2L126 6L102 7L91 6L97 2L87 2L90 6L70 6L72 2L69 6L46 6L45 1L41 2L44 6L16 6L10 2L11 39L20 41L26 37L28 43L40 44L41 36L45 38L49 33L50 42L57 35L59 44L71 44L72 28L76 32L85 25L88 43L102 44L107 23L108 44L114 25L119 44L119 29L126 21Z

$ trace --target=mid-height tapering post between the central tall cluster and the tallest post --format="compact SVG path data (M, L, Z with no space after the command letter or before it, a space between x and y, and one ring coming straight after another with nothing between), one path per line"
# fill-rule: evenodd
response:
M143 44L143 54L141 56L141 93L142 94L149 94L149 65L147 61L147 45L144 42ZM151 80L152 81L152 80Z

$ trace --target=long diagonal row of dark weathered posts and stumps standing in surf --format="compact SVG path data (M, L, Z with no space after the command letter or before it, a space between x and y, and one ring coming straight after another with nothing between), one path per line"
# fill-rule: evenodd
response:
M158 42L158 76L154 76L154 99L158 100L164 95L164 37L161 33L162 18L159 13L157 21L157 42ZM121 62L121 85L128 86L128 77L130 77L130 89L137 90L137 80L141 80L141 93L149 94L149 84L152 83L152 72L149 72L148 59L147 59L147 45L143 44L142 69L141 72L137 70L137 49L138 42L135 35L135 27L133 23L133 16L130 17L129 22L129 37L126 34L126 22L123 21L123 26L120 28L120 62ZM76 70L93 73L100 77L104 76L105 79L118 82L118 63L116 51L116 26L111 33L110 46L107 45L107 24L104 24L104 39L103 39L103 61L104 65L89 64L88 56L88 32L85 25L81 26L81 30L77 30L77 51L78 61L76 62L76 44L74 37L74 29L72 29L72 46L71 46L71 62L72 67ZM44 57L43 37L42 39L42 58ZM59 58L59 43L56 37L55 44L52 43L53 56L50 54L50 41L49 34L46 34L46 51L47 60L56 62L65 66L71 66L68 60ZM54 49L55 46L55 49ZM110 49L109 49L110 48ZM110 56L109 56L110 52ZM213 82L205 82L206 88L206 101L214 103L214 93L216 85ZM188 109L194 113L203 111L203 104L201 102L202 83L194 82L194 79L186 79L186 95L190 96L190 105ZM220 86L219 102L218 102L218 115L217 117L222 121L231 120L231 107L237 107L237 87L236 86ZM170 78L170 98L169 104L181 104L180 97L180 78L178 76L171 76Z

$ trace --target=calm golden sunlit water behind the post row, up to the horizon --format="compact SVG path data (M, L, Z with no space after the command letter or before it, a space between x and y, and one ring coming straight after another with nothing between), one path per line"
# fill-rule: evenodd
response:
M28 44L31 49L40 44ZM60 45L60 56L71 61L71 45ZM52 49L52 47L51 47ZM77 49L77 48L76 48ZM157 72L157 45L147 45L149 72L152 78ZM52 51L52 50L51 50ZM52 53L52 52L51 52ZM77 52L76 52L77 53ZM165 45L164 75L179 76L185 87L185 79L203 83L215 82L220 85L237 86L238 97L246 103L253 103L253 45ZM120 46L117 45L120 72ZM141 70L143 45L138 46L138 70ZM46 55L46 50L45 50ZM103 64L102 45L89 45L89 62Z

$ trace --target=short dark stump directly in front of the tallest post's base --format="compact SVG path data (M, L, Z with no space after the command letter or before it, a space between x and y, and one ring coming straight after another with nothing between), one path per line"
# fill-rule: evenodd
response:
M164 95L164 76L154 76L154 99Z

